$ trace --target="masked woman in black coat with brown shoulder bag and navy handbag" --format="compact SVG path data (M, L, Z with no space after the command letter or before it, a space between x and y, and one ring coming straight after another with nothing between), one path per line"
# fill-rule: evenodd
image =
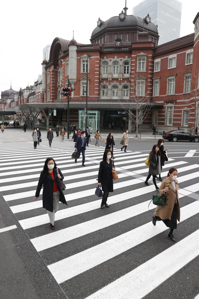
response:
M112 169L114 168L113 160L111 160L113 152L109 149L105 149L103 160L100 162L100 168L98 172L98 185L102 186L103 196L101 209L105 207L109 207L107 205L107 198L109 192L113 192L113 173Z

